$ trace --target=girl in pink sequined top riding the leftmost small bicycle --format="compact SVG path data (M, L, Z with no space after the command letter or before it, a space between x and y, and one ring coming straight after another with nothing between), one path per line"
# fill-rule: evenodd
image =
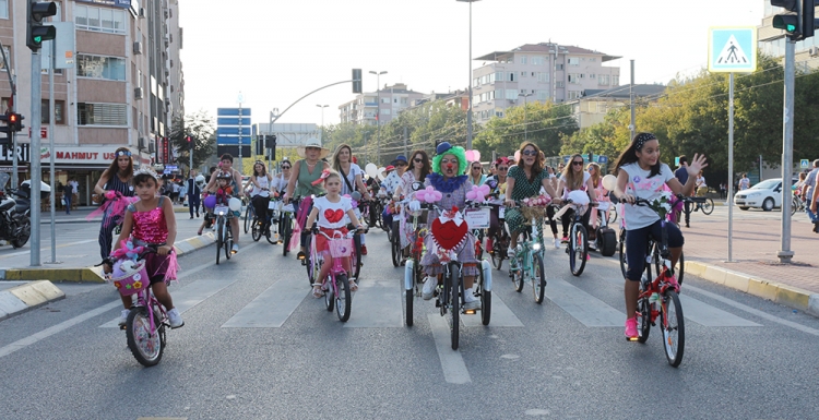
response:
M151 279L151 288L154 296L168 310L168 321L171 328L185 325L179 311L174 308L174 301L168 292L167 284L176 279L179 265L174 253L174 241L176 240L176 218L174 217L174 205L165 196L157 196L159 177L147 166L142 166L133 172L133 184L140 201L128 206L122 232L116 242L115 251L131 241L133 247L155 247L156 253L145 256L145 269ZM122 296L122 319L128 317L131 308L131 296Z

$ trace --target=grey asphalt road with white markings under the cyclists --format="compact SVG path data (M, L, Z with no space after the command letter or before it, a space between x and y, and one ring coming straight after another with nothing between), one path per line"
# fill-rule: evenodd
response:
M819 418L811 316L686 276L675 369L657 329L625 340L615 259L593 254L573 277L548 249L548 299L515 292L505 264L491 324L465 319L453 351L431 301L417 299L404 326L403 272L383 232L367 243L346 324L281 245L245 241L218 266L214 247L182 256L171 293L187 324L149 369L111 327L111 286L66 287L67 299L0 322L0 418Z

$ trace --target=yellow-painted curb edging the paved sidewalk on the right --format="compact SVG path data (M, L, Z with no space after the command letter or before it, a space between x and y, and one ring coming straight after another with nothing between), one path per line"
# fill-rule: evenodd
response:
M819 317L819 293L695 261L686 261L686 273Z

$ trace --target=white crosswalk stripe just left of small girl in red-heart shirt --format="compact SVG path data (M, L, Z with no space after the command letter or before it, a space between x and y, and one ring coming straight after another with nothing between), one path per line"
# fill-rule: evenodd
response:
M282 278L227 320L222 327L278 328L309 292L305 277Z

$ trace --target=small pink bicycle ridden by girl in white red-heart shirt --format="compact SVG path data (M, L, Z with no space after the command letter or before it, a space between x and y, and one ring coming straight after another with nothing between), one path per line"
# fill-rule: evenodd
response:
M336 232L333 237L320 231L316 226L312 228L312 240L310 241L310 266L313 267L311 272L310 283L318 284L319 272L321 271L322 256L316 250L316 237L318 235L327 238L330 248L330 257L333 259L333 266L330 268L330 274L325 278L321 279L321 289L324 291L324 303L328 312L332 312L335 307L335 313L339 315L339 321L347 322L349 320L351 307L353 304L353 292L349 289L349 275L344 269L344 259L351 257L353 254L355 243L353 237L361 233L359 230L351 230L346 235Z

